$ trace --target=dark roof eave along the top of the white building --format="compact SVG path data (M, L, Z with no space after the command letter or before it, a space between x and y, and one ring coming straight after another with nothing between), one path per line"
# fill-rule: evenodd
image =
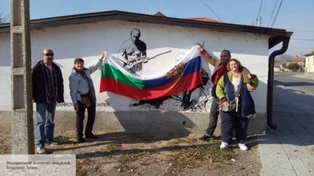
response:
M282 41L282 38L289 35L284 29L274 29L266 27L256 27L239 24L215 23L205 21L195 21L181 18L162 17L146 14L138 14L123 11L106 11L88 14L77 14L61 17L43 18L30 21L31 29L40 29L60 25L82 24L107 20L127 20L135 22L146 22L155 24L177 25L205 28L219 31L248 32L269 35L269 46L272 48ZM0 25L0 33L10 32L10 23ZM292 32L291 32L292 34ZM290 35L291 36L291 35Z

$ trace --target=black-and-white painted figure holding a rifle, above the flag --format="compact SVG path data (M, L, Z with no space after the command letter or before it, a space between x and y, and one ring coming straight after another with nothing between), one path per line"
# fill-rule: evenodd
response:
M132 73L142 70L142 63L133 64L136 59L146 57L146 43L140 40L141 31L138 28L133 28L130 33L131 38L125 40L118 52L118 58L124 63L124 66L129 66Z

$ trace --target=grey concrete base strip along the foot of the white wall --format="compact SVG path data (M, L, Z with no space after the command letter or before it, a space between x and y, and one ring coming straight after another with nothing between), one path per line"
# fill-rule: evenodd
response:
M85 118L87 118L87 113ZM154 136L186 137L189 134L203 135L208 123L209 113L97 111L93 129L105 132L124 131L125 133L146 133ZM251 117L248 135L265 134L265 129L265 114L258 113ZM75 113L57 111L55 132L60 133L67 130L75 130ZM0 111L0 131L11 133L10 111ZM215 135L220 135L220 118Z

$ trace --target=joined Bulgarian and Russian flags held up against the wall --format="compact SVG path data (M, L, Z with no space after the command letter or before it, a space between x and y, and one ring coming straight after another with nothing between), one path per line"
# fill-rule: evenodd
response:
M128 71L116 57L105 56L100 81L100 93L115 94L139 100L167 97L191 90L200 84L201 56L196 46L191 48L171 70L138 76Z

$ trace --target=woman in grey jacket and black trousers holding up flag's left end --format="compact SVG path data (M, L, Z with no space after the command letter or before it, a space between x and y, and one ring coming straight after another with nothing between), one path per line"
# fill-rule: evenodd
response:
M84 142L83 122L86 109L88 112L88 119L85 129L85 137L92 139L98 138L92 133L96 115L96 96L93 80L90 75L98 68L101 69L104 56L105 54L101 53L99 60L88 68L84 67L84 60L82 58L76 58L74 60L73 72L69 77L70 96L74 105L74 110L76 111L76 138L79 143Z

